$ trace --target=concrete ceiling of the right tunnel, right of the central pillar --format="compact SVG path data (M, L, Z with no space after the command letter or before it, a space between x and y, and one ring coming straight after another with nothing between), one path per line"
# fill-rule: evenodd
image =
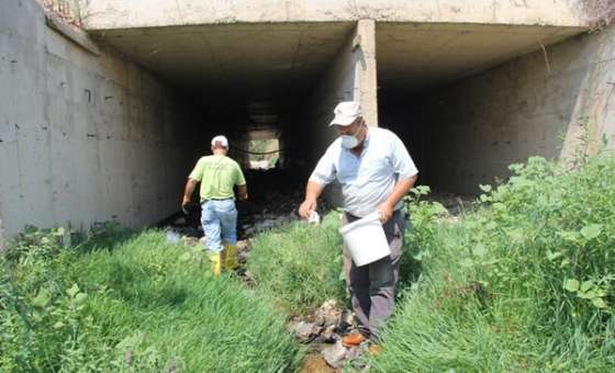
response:
M377 23L378 82L392 91L438 87L563 41L581 27Z

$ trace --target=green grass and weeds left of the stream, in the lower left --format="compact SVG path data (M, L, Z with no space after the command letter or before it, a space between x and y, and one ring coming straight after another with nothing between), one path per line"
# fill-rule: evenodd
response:
M65 248L29 229L0 279L2 372L284 372L302 358L286 317L199 248L108 226Z

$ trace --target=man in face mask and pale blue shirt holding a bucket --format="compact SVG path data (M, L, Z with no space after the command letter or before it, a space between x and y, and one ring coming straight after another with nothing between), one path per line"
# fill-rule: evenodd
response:
M342 340L350 347L368 338L377 339L393 312L405 230L402 199L414 185L418 170L395 134L367 126L357 102L339 103L329 126L339 137L312 172L299 214L308 218L324 187L337 179L345 211L343 224L379 212L391 249L389 257L357 267L344 248L346 283L359 324L359 332Z

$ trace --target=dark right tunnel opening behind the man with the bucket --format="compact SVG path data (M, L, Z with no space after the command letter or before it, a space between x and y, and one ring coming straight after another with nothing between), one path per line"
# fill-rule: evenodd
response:
M508 165L556 156L557 140L539 144L545 135L533 138L530 127L551 128L551 118L528 117L532 84L548 77L540 46L566 37L549 26L377 24L379 125L402 138L420 183L444 200L472 200Z

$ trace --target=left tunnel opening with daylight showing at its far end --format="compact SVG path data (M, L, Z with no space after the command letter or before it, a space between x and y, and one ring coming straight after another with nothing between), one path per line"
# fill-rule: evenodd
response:
M217 24L116 30L94 37L180 95L187 122L168 129L182 132L185 139L179 173L187 177L211 154L211 138L228 138L228 156L239 162L248 185L249 202L237 202L238 234L245 237L297 218L303 184L320 157L314 149L326 147L322 122L329 113L320 112L321 103L342 99L339 92L326 100L318 92L336 84L331 66L354 30L355 22ZM351 84L353 76L347 80ZM325 120L314 123L314 113ZM181 221L174 211L164 224ZM198 227L198 216L189 221Z

